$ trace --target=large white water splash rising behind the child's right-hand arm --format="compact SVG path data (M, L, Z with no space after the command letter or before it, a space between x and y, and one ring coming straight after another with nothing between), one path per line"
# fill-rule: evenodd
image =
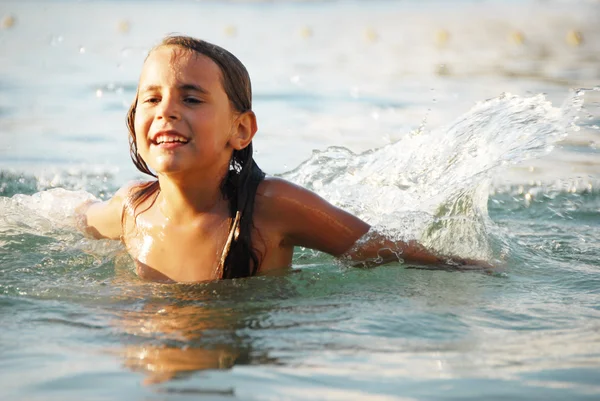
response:
M362 154L332 147L284 178L305 186L396 239L445 254L490 259L488 184L505 166L542 156L576 129L585 90L562 107L543 95L503 94L447 127L419 130Z

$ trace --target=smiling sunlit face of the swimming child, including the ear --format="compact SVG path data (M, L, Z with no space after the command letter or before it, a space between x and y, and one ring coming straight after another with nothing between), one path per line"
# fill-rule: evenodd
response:
M159 175L227 171L236 114L208 57L174 46L148 56L138 86L136 145Z

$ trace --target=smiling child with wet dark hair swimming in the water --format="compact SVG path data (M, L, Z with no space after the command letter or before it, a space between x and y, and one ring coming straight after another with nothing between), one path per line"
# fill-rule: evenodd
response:
M134 164L157 179L87 205L83 217L95 237L124 242L142 278L252 276L289 267L295 246L363 262L476 263L375 235L357 242L367 223L265 177L252 158L250 77L216 45L172 36L151 50L127 125Z

